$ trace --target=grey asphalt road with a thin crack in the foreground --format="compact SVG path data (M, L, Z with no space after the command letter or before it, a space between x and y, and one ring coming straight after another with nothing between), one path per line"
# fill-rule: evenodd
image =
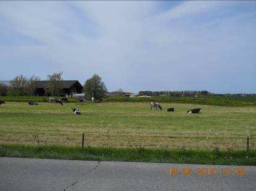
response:
M0 190L246 191L256 166L0 158Z

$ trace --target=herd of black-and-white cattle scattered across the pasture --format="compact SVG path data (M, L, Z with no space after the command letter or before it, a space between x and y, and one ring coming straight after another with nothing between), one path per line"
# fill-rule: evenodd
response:
M62 99L55 99L54 97L49 98L49 103L56 103L56 104L63 105L63 102L68 103L67 97L63 97ZM6 104L6 103L4 101L0 100L0 105L1 104ZM38 103L35 102L35 101L28 101L28 104L29 105L38 105ZM151 110L152 110L152 108L155 108L155 110L160 109L162 111L161 105L157 102L150 102L149 105L150 105ZM199 113L200 110L201 110L201 108L194 108L194 109L188 110L187 113ZM71 108L71 112L74 115L80 115L81 114L81 112L78 108ZM174 108L173 107L168 108L167 112L174 112Z

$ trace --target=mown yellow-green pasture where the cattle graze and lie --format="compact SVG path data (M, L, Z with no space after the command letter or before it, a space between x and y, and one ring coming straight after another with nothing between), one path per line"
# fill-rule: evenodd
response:
M255 149L256 107L221 107L197 104L161 104L162 112L149 103L28 105L6 102L0 106L0 144L85 145L93 147L192 148L221 150ZM174 107L175 112L167 112ZM200 114L188 114L191 108ZM81 115L73 115L79 108Z

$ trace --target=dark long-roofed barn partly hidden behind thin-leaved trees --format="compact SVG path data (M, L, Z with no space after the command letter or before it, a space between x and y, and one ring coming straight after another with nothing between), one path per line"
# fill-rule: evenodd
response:
M0 81L0 83L10 85L11 81ZM62 95L71 95L71 94L80 94L83 86L79 83L78 80L63 80L62 81ZM49 87L49 81L38 81L36 83L35 95L46 95L46 89Z

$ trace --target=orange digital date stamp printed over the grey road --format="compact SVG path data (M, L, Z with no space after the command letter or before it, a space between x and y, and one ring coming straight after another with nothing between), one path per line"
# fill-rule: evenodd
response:
M197 168L193 171L192 168L168 168L168 174L176 176L178 174L182 174L183 176L189 176L192 174L197 174L198 176L205 176L205 175L212 175L215 176L218 173L222 174L223 176L231 176L232 174L237 176L244 176L246 175L245 168L221 168L217 171L217 168Z

